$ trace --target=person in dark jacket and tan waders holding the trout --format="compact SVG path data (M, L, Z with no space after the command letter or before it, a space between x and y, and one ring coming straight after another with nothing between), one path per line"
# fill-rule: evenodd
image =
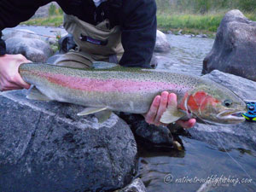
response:
M50 0L2 0L0 31L28 20ZM119 63L124 67L150 67L156 38L154 0L56 0L65 12L64 27L73 35L77 47L55 64L90 67L93 61ZM30 87L21 79L18 68L28 62L21 55L7 55L0 41L0 90ZM145 112L148 123L160 125L160 117L176 96L166 91L156 96ZM195 119L178 121L183 127L195 125Z

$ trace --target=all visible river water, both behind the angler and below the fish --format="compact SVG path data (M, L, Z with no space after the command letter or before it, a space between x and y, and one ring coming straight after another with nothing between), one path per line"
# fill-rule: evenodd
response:
M18 26L38 34L55 37L65 30L35 26ZM5 30L10 32L10 30ZM201 75L202 61L212 49L212 38L189 38L167 35L172 50L156 54L158 69ZM216 148L181 137L185 150L150 148L138 144L139 172L148 192L196 191L207 179L215 181L210 191L256 191L256 152L243 148ZM223 143L224 144L224 143ZM250 181L253 178L253 182Z

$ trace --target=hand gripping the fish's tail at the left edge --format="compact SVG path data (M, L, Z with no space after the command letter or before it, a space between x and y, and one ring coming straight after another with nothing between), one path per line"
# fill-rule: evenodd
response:
M2 55L0 56L0 91L29 89L19 73L21 63L31 62L23 55Z

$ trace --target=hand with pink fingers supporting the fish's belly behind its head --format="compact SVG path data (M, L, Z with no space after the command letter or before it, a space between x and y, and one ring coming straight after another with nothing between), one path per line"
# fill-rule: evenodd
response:
M148 124L154 124L156 126L166 125L160 122L161 115L166 111L169 105L177 105L177 96L174 93L168 93L164 91L161 96L155 96L154 101L148 111L144 114L145 120ZM191 128L195 125L195 119L177 120L177 124L181 125L183 128Z

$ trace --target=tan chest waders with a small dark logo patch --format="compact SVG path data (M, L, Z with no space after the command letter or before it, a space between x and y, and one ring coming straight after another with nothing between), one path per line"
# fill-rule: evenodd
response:
M55 65L66 67L91 67L93 61L118 63L124 53L119 26L109 29L109 20L96 26L79 20L73 15L64 15L64 27L73 35L77 49L62 55Z

